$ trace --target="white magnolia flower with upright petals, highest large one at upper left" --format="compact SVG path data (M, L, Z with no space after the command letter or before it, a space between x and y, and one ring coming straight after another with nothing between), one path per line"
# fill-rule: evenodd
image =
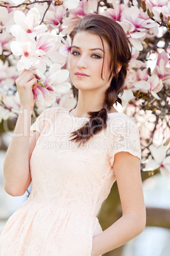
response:
M11 26L10 32L13 36L17 36L18 32L25 31L30 37L35 38L37 34L47 30L46 25L40 23L40 15L37 8L32 8L28 11L27 16L22 11L14 13L15 25Z

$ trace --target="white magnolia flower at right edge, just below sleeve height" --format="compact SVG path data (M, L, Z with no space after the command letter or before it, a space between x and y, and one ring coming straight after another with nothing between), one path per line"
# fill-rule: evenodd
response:
M170 156L166 157L167 146L156 148L154 145L150 145L149 149L154 159L148 160L143 171L153 171L160 167L160 173L168 176L170 174Z

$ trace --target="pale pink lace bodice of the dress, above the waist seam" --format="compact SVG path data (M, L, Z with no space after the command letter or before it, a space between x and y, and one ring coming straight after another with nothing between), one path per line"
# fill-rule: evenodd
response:
M114 155L126 151L141 159L137 125L124 113L108 114L108 125L84 146L70 142L70 132L85 124L69 110L42 111L30 131L41 135L30 159L30 199L96 216L115 181Z

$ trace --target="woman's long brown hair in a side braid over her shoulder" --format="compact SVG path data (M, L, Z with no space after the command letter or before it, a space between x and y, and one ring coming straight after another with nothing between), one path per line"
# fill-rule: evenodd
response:
M80 129L71 133L71 136L74 136L71 141L79 142L79 146L81 145L81 143L86 143L86 141L88 141L89 138L93 136L93 134L100 132L103 128L107 128L107 113L110 108L112 108L114 103L116 104L116 106L117 102L122 105L122 100L119 98L119 95L122 96L123 94L124 80L126 78L127 69L129 66L128 63L131 59L131 50L129 48L129 46L131 46L131 43L126 37L126 34L122 29L121 25L115 22L115 20L112 20L112 18L108 18L98 14L86 15L86 17L79 20L76 27L74 27L72 32L70 32L70 38L72 39L72 41L75 34L82 31L98 34L98 36L100 36L102 45L103 39L107 41L110 48L109 79L111 78L112 74L116 75L113 76L110 87L108 87L108 89L105 91L103 108L101 108L100 111L89 111L89 122L86 122L86 124ZM105 54L103 56L103 62L104 58ZM119 73L117 73L118 64L122 65ZM101 78L102 73L103 65L101 69Z

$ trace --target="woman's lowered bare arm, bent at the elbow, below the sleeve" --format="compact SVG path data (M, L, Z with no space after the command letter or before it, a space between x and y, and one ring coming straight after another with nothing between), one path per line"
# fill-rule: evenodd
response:
M122 205L122 217L93 237L91 256L99 256L138 236L146 224L140 159L128 152L115 154L114 174Z

